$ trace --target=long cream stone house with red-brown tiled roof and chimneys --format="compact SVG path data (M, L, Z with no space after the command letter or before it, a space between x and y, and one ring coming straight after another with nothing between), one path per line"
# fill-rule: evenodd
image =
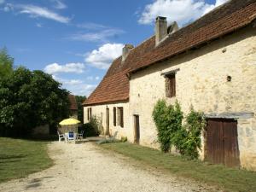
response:
M207 116L201 160L256 170L256 1L231 0L177 27L157 17L155 34L126 44L84 102L105 134L158 148L152 119L161 98Z

